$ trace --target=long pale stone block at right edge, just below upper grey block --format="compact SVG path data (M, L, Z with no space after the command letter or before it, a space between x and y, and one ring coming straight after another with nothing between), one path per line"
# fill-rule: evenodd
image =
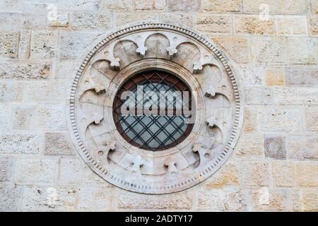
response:
M317 105L317 88L273 88L277 105Z

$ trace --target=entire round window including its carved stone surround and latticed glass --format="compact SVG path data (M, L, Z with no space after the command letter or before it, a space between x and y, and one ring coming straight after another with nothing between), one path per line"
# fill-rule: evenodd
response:
M208 38L143 23L94 44L74 72L68 115L93 171L122 189L166 194L223 165L240 136L242 104L228 61ZM181 98L162 107L169 92Z

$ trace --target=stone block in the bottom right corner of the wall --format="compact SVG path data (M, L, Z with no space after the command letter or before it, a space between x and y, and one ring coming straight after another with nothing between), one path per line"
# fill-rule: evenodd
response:
M294 211L318 211L318 191L298 190L293 194Z

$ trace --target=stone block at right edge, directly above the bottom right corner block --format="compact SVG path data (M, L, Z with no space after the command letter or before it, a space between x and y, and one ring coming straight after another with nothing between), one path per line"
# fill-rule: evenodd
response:
M318 186L318 163L298 162L296 175L300 186Z

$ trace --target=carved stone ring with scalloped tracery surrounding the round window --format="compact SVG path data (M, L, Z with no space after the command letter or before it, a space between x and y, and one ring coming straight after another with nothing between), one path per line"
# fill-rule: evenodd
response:
M223 165L240 136L242 103L228 60L208 37L142 23L100 37L90 48L74 70L68 119L73 143L94 172L122 189L166 194L202 182ZM113 118L124 81L150 69L182 79L196 105L189 135L158 151L127 142Z

